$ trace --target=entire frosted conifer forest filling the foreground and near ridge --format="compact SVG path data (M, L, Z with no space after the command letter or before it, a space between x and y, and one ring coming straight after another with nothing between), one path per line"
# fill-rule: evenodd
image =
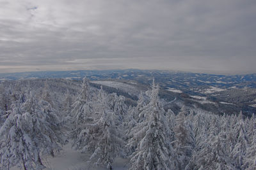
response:
M81 81L40 79L0 84L0 169L49 169L42 158L63 146L115 169L256 169L256 118L214 115L183 105L164 110L153 81L136 104Z

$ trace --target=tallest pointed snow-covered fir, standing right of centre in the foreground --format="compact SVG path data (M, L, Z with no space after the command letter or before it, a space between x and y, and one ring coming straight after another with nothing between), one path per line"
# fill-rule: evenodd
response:
M158 99L159 87L153 85L150 108L145 120L132 129L128 146L136 147L131 155L131 169L175 169L177 161L170 139L171 132ZM137 146L134 143L138 143Z

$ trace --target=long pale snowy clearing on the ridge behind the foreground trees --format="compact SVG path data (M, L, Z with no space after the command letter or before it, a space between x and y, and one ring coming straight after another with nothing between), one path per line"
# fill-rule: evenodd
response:
M130 93L134 96L138 96L138 94L140 94L136 87L133 87L132 85L128 85L126 83L122 83L120 81L92 81L92 83L106 85L108 87L113 87L115 89L122 89L124 90L124 92Z

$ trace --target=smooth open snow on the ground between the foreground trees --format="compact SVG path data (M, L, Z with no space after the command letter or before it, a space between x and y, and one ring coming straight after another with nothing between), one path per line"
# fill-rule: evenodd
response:
M88 163L89 155L80 153L71 148L71 144L63 146L63 150L57 153L55 157L43 156L42 162L46 166L46 170L104 170L106 167L93 167ZM113 163L113 169L126 170L128 169L128 159L116 158ZM18 167L12 167L10 170L18 170Z

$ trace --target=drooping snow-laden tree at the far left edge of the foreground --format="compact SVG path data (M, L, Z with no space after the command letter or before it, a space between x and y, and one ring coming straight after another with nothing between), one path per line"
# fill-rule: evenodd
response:
M1 164L9 169L20 165L24 169L43 169L40 159L40 148L33 141L33 117L20 111L20 106L13 106L13 110L0 129Z

